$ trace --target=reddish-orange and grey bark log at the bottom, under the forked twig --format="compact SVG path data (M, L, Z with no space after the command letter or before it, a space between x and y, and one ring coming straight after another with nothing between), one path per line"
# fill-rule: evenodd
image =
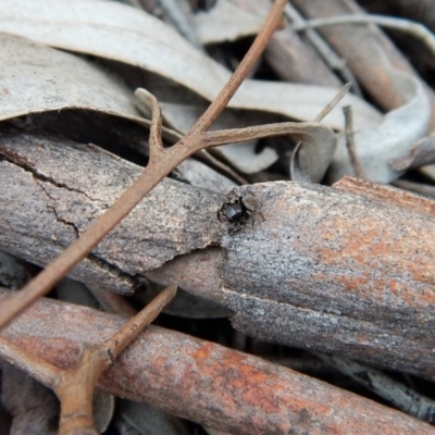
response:
M0 301L8 297L1 294ZM125 320L39 299L2 334L29 352L71 366ZM398 411L260 358L149 326L115 361L101 386L171 414L237 434L434 434Z

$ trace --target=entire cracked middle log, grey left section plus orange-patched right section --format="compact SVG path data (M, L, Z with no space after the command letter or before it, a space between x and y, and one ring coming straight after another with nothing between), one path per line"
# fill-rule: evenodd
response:
M0 248L41 265L140 171L94 146L13 129L0 156ZM164 179L73 276L124 293L142 276L177 284L232 309L250 335L433 378L430 212L299 183L236 192L252 200L254 223L229 233L216 217L224 195Z

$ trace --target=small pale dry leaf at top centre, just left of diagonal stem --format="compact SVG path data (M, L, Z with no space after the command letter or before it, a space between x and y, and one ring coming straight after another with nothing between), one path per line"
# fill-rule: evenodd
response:
M238 8L228 0L217 0L209 11L195 14L194 23L200 41L208 45L257 35L264 17Z

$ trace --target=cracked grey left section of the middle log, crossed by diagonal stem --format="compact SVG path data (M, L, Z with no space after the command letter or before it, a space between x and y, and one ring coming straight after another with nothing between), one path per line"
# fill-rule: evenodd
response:
M0 139L0 207L8 210L0 213L0 246L40 265L83 233L141 172L98 147L50 135L3 129ZM220 203L220 195L166 178L72 276L94 287L132 291L141 271L216 243Z

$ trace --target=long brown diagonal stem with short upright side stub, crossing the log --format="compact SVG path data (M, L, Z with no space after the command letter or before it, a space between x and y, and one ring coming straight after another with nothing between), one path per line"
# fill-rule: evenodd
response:
M263 27L228 83L194 125L191 130L173 147L163 149L160 136L161 119L159 120L159 111L153 111L150 133L150 161L148 166L133 185L121 195L117 201L77 241L71 245L45 271L1 308L0 328L65 276L177 164L203 148L202 132L209 128L213 121L221 114L248 74L249 69L264 50L269 39L281 24L282 13L286 3L286 0L275 0Z

